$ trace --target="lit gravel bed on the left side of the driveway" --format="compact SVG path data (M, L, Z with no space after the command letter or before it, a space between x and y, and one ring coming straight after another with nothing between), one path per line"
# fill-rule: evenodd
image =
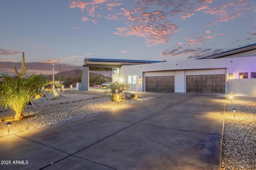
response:
M7 121L0 122L0 137L38 129L62 121L83 117L98 113L100 111L118 108L143 100L152 98L132 98L131 100L118 100L114 103L110 96L92 94L68 94L58 92L58 96L53 97L47 93L45 97L33 100L33 105L28 105L24 110L25 119L22 121L11 121L10 133L8 133ZM11 109L0 109L0 120L14 117Z

